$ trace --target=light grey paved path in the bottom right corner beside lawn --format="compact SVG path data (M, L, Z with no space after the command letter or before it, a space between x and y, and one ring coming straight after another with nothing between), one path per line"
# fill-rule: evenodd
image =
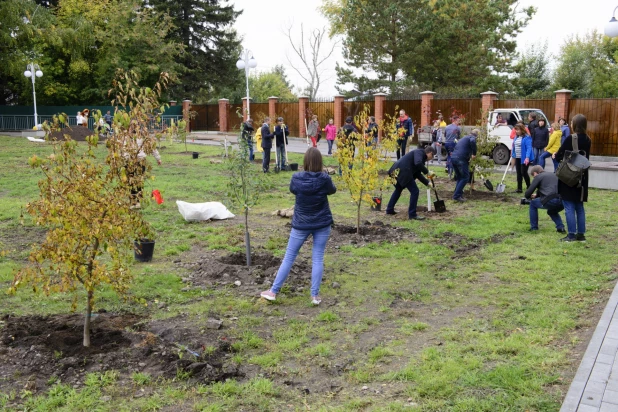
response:
M618 411L618 284L603 311L560 412Z

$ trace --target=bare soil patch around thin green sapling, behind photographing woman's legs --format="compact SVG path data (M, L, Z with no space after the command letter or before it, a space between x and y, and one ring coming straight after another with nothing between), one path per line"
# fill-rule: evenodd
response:
M218 256L213 252L195 262L178 264L193 272L182 278L182 281L189 285L233 287L241 294L256 296L272 284L281 266L281 259L267 253L254 254L251 256L251 266L247 266L244 253ZM290 271L290 277L286 281L289 292L300 294L310 282L311 265L301 257L297 257Z

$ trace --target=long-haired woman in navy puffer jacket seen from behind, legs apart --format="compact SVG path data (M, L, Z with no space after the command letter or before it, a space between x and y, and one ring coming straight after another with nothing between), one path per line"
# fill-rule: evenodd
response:
M314 147L309 148L303 162L304 171L295 173L290 182L290 192L296 195L292 231L285 257L272 287L260 294L264 299L273 301L277 298L277 293L290 274L298 251L309 235L312 235L311 303L319 305L322 301L320 284L324 273L324 250L333 224L328 196L337 191L330 176L322 169L322 154Z

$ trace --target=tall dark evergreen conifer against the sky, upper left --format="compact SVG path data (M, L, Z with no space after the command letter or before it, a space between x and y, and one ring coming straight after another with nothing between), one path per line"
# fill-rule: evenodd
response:
M231 27L242 13L220 0L145 0L172 18L168 38L185 46L179 62L185 67L172 97L195 99L201 90L225 88L237 80L240 40ZM237 73L236 73L237 74Z

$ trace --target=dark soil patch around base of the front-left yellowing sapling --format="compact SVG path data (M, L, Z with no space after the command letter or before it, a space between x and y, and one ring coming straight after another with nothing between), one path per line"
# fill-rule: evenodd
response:
M211 329L206 326L200 331L183 327L177 318L149 324L130 314L93 316L89 348L82 345L82 315L5 316L0 334L0 390L45 390L51 377L81 385L87 373L105 370L127 376L145 372L153 378L172 378L182 370L202 382L239 374L227 362L230 345L222 340L225 331L217 321Z

